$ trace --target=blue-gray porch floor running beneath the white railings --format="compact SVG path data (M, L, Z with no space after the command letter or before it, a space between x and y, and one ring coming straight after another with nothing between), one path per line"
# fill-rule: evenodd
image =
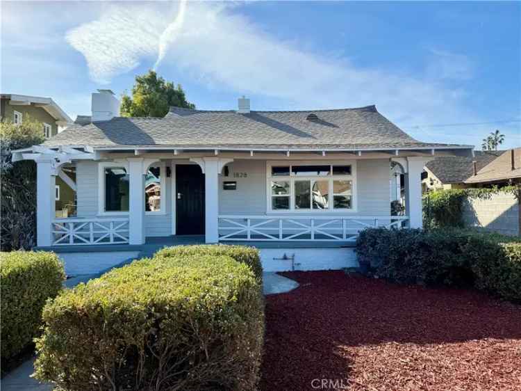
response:
M340 248L354 247L352 241L220 241L222 244L236 244L256 248ZM172 235L168 237L147 237L144 244L100 244L94 246L48 246L35 250L55 253L105 253L112 251L139 251L140 256L149 257L163 247L204 244L204 235Z

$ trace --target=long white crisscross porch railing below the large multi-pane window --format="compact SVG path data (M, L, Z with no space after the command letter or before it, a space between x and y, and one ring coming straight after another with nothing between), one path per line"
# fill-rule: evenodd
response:
M402 228L408 216L219 216L222 241L356 241L367 227Z

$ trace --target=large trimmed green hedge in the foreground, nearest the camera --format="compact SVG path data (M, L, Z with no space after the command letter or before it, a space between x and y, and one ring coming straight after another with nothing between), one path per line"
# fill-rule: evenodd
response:
M44 308L35 376L66 390L253 390L264 325L258 284L224 256L110 271Z

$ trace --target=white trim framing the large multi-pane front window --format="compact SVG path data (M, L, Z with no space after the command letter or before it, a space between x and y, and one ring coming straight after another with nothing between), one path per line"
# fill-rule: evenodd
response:
M292 175L291 166L331 166L331 175L310 175L297 176ZM333 175L332 166L351 166L351 175ZM290 175L275 175L272 177L272 166L290 166ZM329 181L329 209L313 209L311 202L310 209L295 209L295 180L328 180ZM356 160L328 160L328 161L266 161L266 214L354 214L358 212L358 191L357 191L357 175ZM350 209L334 209L333 202L333 180L350 180L352 181L352 197ZM272 181L289 181L290 182L290 209L272 209Z

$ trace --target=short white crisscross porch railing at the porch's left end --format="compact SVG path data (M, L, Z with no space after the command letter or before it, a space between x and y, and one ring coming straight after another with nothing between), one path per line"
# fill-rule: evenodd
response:
M128 218L63 218L51 225L52 246L129 243Z

